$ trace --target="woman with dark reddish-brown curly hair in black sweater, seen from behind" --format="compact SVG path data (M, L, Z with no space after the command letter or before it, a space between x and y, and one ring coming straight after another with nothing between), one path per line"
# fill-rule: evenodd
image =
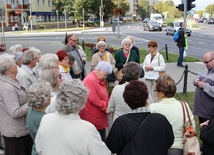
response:
M147 109L148 91L142 81L126 85L123 98L132 109L118 117L106 139L106 145L117 155L166 155L173 143L172 126L161 114ZM160 134L161 133L161 134Z

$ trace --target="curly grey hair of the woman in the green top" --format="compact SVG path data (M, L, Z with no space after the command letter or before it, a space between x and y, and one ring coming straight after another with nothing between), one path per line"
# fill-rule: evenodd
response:
M44 107L51 96L52 87L48 82L33 83L28 89L28 105L40 109Z

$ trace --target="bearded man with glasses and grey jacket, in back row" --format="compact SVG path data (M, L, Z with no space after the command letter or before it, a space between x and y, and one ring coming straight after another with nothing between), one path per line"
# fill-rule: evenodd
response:
M84 66L87 60L86 53L84 52L82 47L78 45L78 38L75 34L72 33L67 35L65 40L67 44L63 47L62 50L66 51L69 54L72 54L77 62L72 66L72 70L74 71L73 78L80 78L81 80L83 80L85 74Z

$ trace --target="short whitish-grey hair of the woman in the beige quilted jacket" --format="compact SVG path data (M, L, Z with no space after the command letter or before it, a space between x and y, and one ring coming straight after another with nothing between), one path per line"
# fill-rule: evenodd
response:
M5 75L10 66L16 65L14 55L4 53L0 56L0 74Z

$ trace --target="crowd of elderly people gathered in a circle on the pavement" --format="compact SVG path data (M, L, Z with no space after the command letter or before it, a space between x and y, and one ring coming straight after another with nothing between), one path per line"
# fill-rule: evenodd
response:
M175 81L159 74L166 64L157 42L148 42L142 65L132 36L114 56L106 42L97 38L89 72L76 34L53 53L14 45L0 55L5 155L183 155L182 106ZM207 68L193 81L193 112L184 103L193 128L199 117L204 155L214 154L213 60L214 52L204 55ZM119 70L122 80L108 79Z

